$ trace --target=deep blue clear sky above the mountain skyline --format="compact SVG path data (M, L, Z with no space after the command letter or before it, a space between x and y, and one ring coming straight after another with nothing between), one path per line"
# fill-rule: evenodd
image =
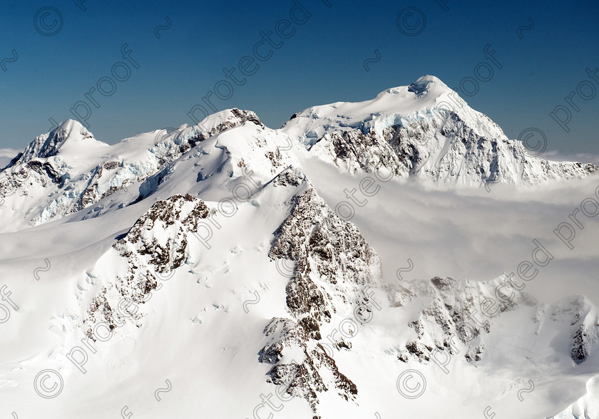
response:
M236 67L242 56L251 56L259 32L274 31L294 6L292 0L78 1L86 11L75 0L2 1L0 60L11 58L13 49L19 58L4 62L6 71L0 68L0 148L23 148L50 130L48 118L73 118L69 110L79 100L92 110L91 132L108 143L156 128L192 125L187 113L193 105L205 106L202 97L227 80L222 68ZM580 110L569 108L569 133L549 115L558 105L568 106L570 91L590 80L586 68L599 66L596 0L448 0L449 10L435 0L329 0L331 7L327 1L299 1L312 16L295 25L290 38L273 34L275 43L283 45L255 74L245 76L245 85L234 86L231 98L213 95L218 110L254 110L266 125L279 128L311 105L369 99L424 74L454 88L475 76L478 63L490 63L483 53L489 43L502 68L494 68L490 81L479 82L476 95L460 92L461 97L510 138L535 127L546 133L548 150L599 154L599 92L589 100L578 94L573 98ZM34 16L45 6L61 12L62 28L53 36L34 28ZM406 7L426 16L426 26L416 36L398 29L397 16ZM154 29L166 26L167 16L170 29L156 38ZM301 17L297 12L296 18ZM531 26L529 17L534 27L521 31L521 39L517 29ZM51 28L53 16L44 19L47 31L58 29ZM406 22L416 24L416 19L409 16ZM124 43L139 68L130 66L130 77L115 82L113 95L93 93L100 105L95 108L85 94L98 79L111 76L113 64L126 62ZM375 49L381 58L366 71L364 60L375 58ZM123 77L126 70L119 71ZM239 69L234 75L242 78ZM105 90L109 83L103 83ZM598 82L590 83L599 90ZM220 88L227 93L226 86ZM588 84L582 88L583 94L593 93ZM83 107L79 110L83 113Z

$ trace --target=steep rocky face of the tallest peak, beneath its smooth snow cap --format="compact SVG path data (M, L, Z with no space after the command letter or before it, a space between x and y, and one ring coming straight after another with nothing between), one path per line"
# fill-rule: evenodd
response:
M484 118L483 118L484 117ZM416 177L435 182L480 185L508 182L534 185L545 180L571 179L598 170L592 164L550 162L531 157L517 141L508 140L501 129L487 120L485 137L459 113L436 110L399 118L399 123L377 130L376 125L333 131L310 146L310 152L328 156L350 172L374 172L381 167L397 177ZM480 123L480 121L478 121Z

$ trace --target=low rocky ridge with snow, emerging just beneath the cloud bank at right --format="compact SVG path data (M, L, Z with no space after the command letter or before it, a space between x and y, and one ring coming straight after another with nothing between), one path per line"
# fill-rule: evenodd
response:
M576 364L583 363L598 351L599 317L588 299L575 296L546 309L528 294L508 288L513 293L512 298L500 300L496 297L496 289L502 281L472 282L435 277L427 282L405 281L399 286L388 287L392 306L404 306L423 296L431 299L419 318L407 324L416 332L416 339L397 350L396 357L403 362L428 362L435 351L446 351L450 356L464 356L471 363L481 361L486 335L493 333L493 319L527 306L536 308L537 313L536 318L529 321L565 326L570 358Z

